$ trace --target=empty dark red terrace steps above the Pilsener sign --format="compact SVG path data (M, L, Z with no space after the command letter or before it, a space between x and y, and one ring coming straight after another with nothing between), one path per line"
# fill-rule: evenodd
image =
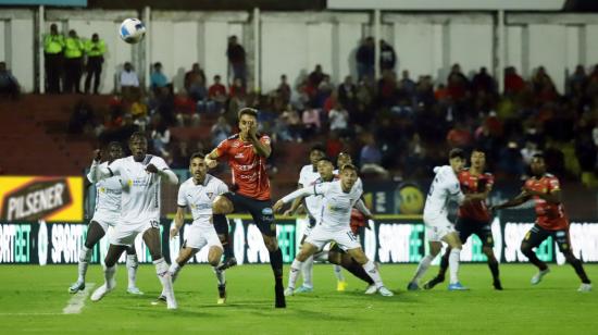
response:
M66 134L73 107L86 99L95 110L108 106L109 96L24 95L0 101L0 162L11 175L79 175L94 149L86 136ZM43 154L41 154L43 153Z

